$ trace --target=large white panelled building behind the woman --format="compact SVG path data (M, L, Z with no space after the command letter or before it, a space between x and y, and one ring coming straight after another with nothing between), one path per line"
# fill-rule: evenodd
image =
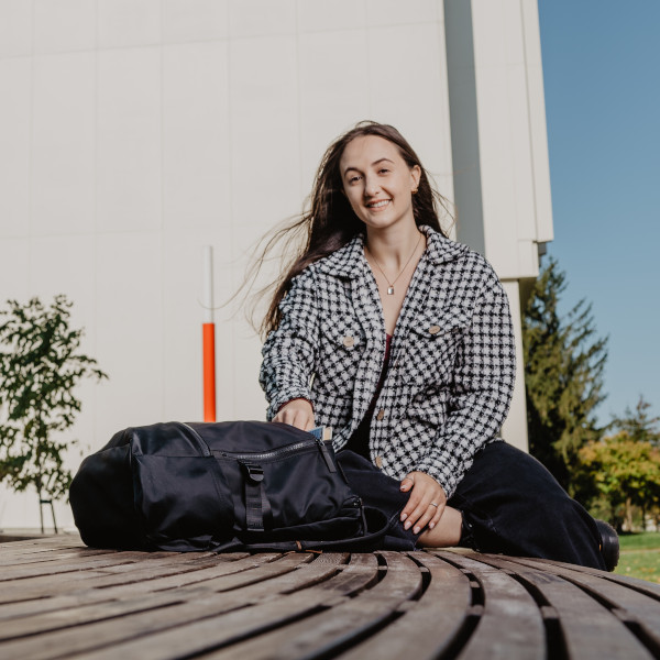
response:
M359 120L408 139L518 318L552 239L535 0L2 0L0 94L0 301L67 294L110 375L81 388L72 468L201 418L202 246L220 304ZM260 341L216 321L218 417L263 419ZM38 524L33 493L0 497L0 528Z

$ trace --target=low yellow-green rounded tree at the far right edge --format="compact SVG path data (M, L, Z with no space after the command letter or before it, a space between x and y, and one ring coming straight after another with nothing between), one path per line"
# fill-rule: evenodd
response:
M619 509L628 531L632 530L632 507L642 512L660 499L660 449L619 431L600 441L587 442L579 452L585 476L608 504L609 520L620 527ZM644 520L644 515L642 515Z

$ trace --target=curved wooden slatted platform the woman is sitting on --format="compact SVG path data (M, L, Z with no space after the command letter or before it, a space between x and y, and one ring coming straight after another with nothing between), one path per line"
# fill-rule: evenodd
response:
M660 657L660 585L463 551L177 554L0 544L0 658Z

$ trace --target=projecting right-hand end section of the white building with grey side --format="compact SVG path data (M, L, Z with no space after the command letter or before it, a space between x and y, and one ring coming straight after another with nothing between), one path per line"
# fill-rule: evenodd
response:
M552 240L536 0L446 0L458 239L505 284L517 330L517 381L503 437L527 449L520 285Z

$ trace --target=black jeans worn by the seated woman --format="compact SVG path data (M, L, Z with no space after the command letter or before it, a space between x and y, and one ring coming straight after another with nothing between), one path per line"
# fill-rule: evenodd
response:
M340 451L338 459L364 504L391 519L385 546L414 548L417 537L398 521L409 496L399 491L399 482L352 451ZM594 519L539 461L506 442L492 442L476 453L448 505L462 512L481 552L605 570Z

